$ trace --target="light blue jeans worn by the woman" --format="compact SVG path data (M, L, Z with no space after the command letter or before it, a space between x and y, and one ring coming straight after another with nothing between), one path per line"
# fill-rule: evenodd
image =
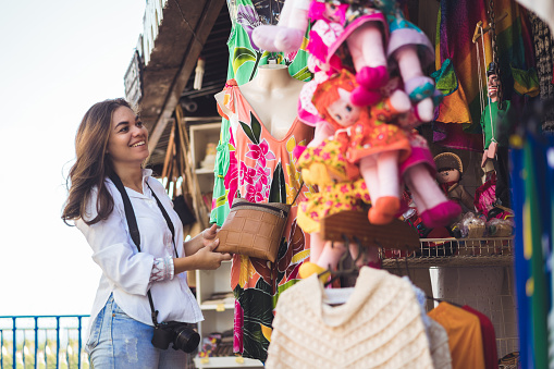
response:
M151 344L153 327L128 317L110 296L90 329L86 352L95 369L186 368L187 354Z

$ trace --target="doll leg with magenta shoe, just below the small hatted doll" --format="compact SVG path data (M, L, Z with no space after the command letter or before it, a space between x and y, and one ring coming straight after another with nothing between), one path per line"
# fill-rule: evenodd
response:
M414 196L421 220L427 226L447 225L461 212L459 205L450 201L444 196L424 164L409 168L404 180Z

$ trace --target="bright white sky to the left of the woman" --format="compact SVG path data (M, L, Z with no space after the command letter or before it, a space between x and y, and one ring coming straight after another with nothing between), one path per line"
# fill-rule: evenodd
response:
M2 1L0 316L90 312L100 268L60 219L64 181L86 110L124 97L145 5Z

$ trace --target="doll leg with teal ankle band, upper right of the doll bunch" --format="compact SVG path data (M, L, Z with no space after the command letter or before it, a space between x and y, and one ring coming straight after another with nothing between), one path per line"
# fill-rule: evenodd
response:
M423 75L416 46L404 46L395 53L398 69L404 81L404 88L416 103L416 113L422 122L430 122L434 116L434 81Z

